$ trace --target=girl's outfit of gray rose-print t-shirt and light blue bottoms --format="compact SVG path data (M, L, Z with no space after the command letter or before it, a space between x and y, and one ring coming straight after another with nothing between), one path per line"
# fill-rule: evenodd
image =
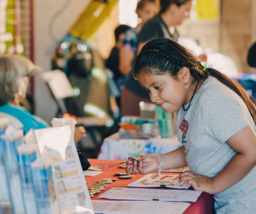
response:
M217 175L236 154L226 143L231 136L248 125L256 132L243 100L212 76L202 84L189 110L181 107L176 118L190 170L208 177ZM217 213L255 213L256 167L214 198Z

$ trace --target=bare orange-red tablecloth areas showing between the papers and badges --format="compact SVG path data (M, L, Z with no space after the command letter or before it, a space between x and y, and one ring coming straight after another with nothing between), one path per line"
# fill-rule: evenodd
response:
M124 161L120 160L102 160L102 159L88 159L90 162L91 166L94 165L100 165L100 164L117 164L115 166L111 166L109 168L103 169L102 173L96 175L96 176L85 176L85 180L87 183L87 186L89 186L92 183L97 183L98 180L102 178L118 178L118 176L115 176L116 172L125 172L125 169L119 168L119 164L123 163ZM170 174L170 173L163 173L163 174ZM173 173L173 174L179 174L179 173ZM108 199L101 199L98 198L98 196L101 193L104 193L105 191L111 189L111 188L117 188L117 187L123 187L126 188L127 185L144 175L141 174L134 174L134 177L130 179L120 179L118 178L117 180L113 181L112 183L108 183L105 190L101 191L98 194L95 194L94 197L91 198L91 200L108 200ZM132 188L132 187L129 187ZM152 188L152 189L160 189L160 188ZM183 212L184 214L212 214L214 213L214 198L213 195L210 195L208 193L203 192L199 198L197 199L196 202L190 202L190 206Z

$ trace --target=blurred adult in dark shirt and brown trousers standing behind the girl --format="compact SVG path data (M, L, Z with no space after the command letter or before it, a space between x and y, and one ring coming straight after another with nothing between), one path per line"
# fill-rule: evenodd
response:
M190 16L192 0L160 0L159 13L147 21L138 34L138 51L153 38L178 39L177 25ZM150 102L149 94L130 72L121 94L123 115L139 115L139 102Z

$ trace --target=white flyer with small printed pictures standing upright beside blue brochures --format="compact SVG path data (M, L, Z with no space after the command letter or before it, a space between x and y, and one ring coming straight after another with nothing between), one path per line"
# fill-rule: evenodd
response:
M52 159L54 185L61 213L71 213L77 205L93 213L88 188L69 125L36 129L34 136L40 155ZM74 212L72 212L74 213Z

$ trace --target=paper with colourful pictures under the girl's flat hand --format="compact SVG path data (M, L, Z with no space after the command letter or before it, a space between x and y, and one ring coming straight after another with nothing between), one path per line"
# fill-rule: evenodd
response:
M128 184L135 187L163 187L163 188L178 188L189 189L191 184L186 182L178 182L179 175L163 175L156 176L155 174L147 174L142 178Z

